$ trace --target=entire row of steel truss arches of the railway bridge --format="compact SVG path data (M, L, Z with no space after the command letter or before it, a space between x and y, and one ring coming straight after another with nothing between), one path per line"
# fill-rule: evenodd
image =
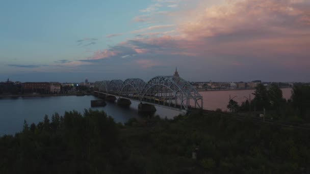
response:
M203 104L202 96L197 90L188 81L175 76L157 76L148 82L139 78L97 81L94 89L97 94L178 110L202 109Z

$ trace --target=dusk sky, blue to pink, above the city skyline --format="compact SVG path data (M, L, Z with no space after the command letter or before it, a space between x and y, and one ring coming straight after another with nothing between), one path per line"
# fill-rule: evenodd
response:
M4 0L0 81L310 81L308 0Z

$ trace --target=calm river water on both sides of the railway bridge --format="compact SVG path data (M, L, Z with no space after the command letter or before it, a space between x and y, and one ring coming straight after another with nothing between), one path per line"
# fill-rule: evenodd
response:
M291 89L282 89L283 97L291 97ZM229 95L239 103L246 100L254 90L242 91L210 91L200 92L203 96L203 108L215 110L221 108L226 110L229 101ZM253 99L253 95L251 96ZM93 96L55 96L55 97L30 97L30 98L2 98L0 99L0 135L14 134L22 129L23 121L29 124L43 121L45 114L51 115L55 112L64 114L65 111L77 110L83 113L84 109L91 108L90 101L95 100ZM121 108L116 103L107 103L105 107L96 107L98 110L105 110L116 122L126 122L130 118L139 119L138 102L132 101L128 109ZM156 106L157 111L162 118L172 119L178 115L179 111L166 109Z

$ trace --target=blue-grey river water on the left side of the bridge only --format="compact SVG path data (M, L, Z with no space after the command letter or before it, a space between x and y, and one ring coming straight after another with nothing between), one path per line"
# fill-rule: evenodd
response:
M65 111L77 110L81 113L84 109L91 108L90 101L96 100L94 96L55 96L55 97L19 97L0 99L0 135L14 134L22 129L24 120L31 123L43 121L45 114L51 117L58 112L63 115ZM126 122L138 116L138 102L132 101L130 108L121 108L116 103L109 103L105 107L93 109L105 110L116 122ZM176 110L156 107L155 114L172 119L180 112Z

